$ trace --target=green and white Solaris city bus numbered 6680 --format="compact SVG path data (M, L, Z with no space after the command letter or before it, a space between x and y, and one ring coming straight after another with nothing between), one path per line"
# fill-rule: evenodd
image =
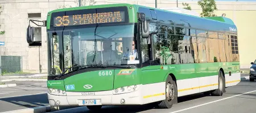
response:
M240 82L237 28L222 16L113 4L53 10L42 22L50 106L171 108L177 97L221 96Z

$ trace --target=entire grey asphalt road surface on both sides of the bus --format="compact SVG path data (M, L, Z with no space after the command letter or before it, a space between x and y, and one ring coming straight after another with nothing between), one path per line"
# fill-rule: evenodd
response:
M241 77L246 77L242 74ZM48 106L46 81L13 81L17 86L0 89L0 112ZM226 89L221 97L202 93L179 97L179 103L170 109L157 109L150 104L141 106L104 106L97 112L254 112L256 111L256 82L242 80L238 85ZM243 94L246 92L251 92ZM242 94L242 95L238 95ZM238 96L237 96L238 95ZM232 97L236 96L236 97ZM228 99L225 99L228 98ZM223 100L220 100L223 99ZM92 112L86 107L77 107L55 112Z

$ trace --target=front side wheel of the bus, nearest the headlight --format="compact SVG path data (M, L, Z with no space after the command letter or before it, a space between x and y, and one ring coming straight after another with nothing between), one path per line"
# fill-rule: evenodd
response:
M168 76L166 80L166 99L158 102L158 107L171 108L176 101L177 101L177 85L176 85L176 82L172 80L172 77Z

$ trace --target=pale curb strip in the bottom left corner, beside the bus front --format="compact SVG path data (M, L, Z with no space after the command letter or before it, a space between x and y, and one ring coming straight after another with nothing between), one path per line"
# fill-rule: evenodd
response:
M14 111L6 111L1 113L13 113L13 112L19 112L19 113L42 113L42 112L48 112L50 111L50 106L41 106L41 107L34 107L34 108L24 108L22 110L14 110Z

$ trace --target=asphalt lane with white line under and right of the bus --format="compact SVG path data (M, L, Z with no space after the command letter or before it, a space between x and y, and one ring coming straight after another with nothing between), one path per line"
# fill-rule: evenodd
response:
M242 77L248 76L242 74ZM100 111L96 112L143 112L143 113L241 113L256 111L256 82L242 80L238 85L226 88L226 93L221 97L204 96L204 94L193 94L179 97L179 102L170 109L158 109L150 104L141 106L104 106ZM249 93L248 93L249 92ZM251 93L250 93L251 92ZM243 94L246 93L246 94ZM93 112L86 107L77 107L67 110L55 111L54 113L65 112ZM53 112L52 112L53 113Z

